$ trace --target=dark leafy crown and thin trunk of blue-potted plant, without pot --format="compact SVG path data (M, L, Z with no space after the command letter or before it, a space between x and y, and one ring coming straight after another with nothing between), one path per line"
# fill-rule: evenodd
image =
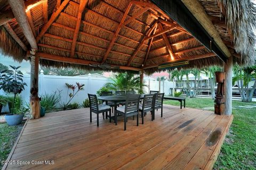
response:
M17 94L20 94L23 90L25 90L25 86L27 86L27 84L23 82L23 73L18 70L20 66L15 67L10 65L10 67L13 70L3 70L0 72L0 90L3 89L5 92L13 93L13 104L15 104ZM13 114L13 111L14 105L11 114Z

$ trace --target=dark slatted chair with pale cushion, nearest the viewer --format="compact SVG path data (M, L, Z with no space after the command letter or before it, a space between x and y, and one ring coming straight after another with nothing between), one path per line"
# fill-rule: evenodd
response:
M125 105L116 109L116 113L124 116L124 130L126 130L127 117L137 115L137 126L139 126L139 102L140 95L127 95ZM117 124L117 117L115 115Z

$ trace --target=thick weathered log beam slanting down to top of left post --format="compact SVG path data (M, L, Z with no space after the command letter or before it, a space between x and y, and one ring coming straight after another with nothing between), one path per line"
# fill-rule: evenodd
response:
M33 32L30 28L29 22L28 22L24 1L23 0L9 0L8 2L10 4L10 6L12 8L12 12L13 12L23 34L27 38L28 43L30 44L31 48L34 50L37 50L38 47L37 47Z

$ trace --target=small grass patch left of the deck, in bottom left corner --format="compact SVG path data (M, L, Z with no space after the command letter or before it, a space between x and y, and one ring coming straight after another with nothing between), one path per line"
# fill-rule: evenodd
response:
M2 160L6 160L10 154L23 125L24 123L15 126L8 126L6 123L0 124L0 163ZM0 169L2 166L0 164Z

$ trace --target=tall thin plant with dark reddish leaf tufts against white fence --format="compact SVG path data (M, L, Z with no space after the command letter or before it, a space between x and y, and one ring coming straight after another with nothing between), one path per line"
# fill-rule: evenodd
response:
M65 111L67 108L71 107L70 106L70 101L76 96L76 94L78 93L78 91L84 90L84 84L80 84L78 82L76 82L76 84L69 84L69 83L65 83L66 87L68 88L67 91L67 98L66 98L66 103L63 102L62 104L60 104L61 108ZM69 89L71 89L72 92L69 92ZM68 99L69 97L69 99Z

